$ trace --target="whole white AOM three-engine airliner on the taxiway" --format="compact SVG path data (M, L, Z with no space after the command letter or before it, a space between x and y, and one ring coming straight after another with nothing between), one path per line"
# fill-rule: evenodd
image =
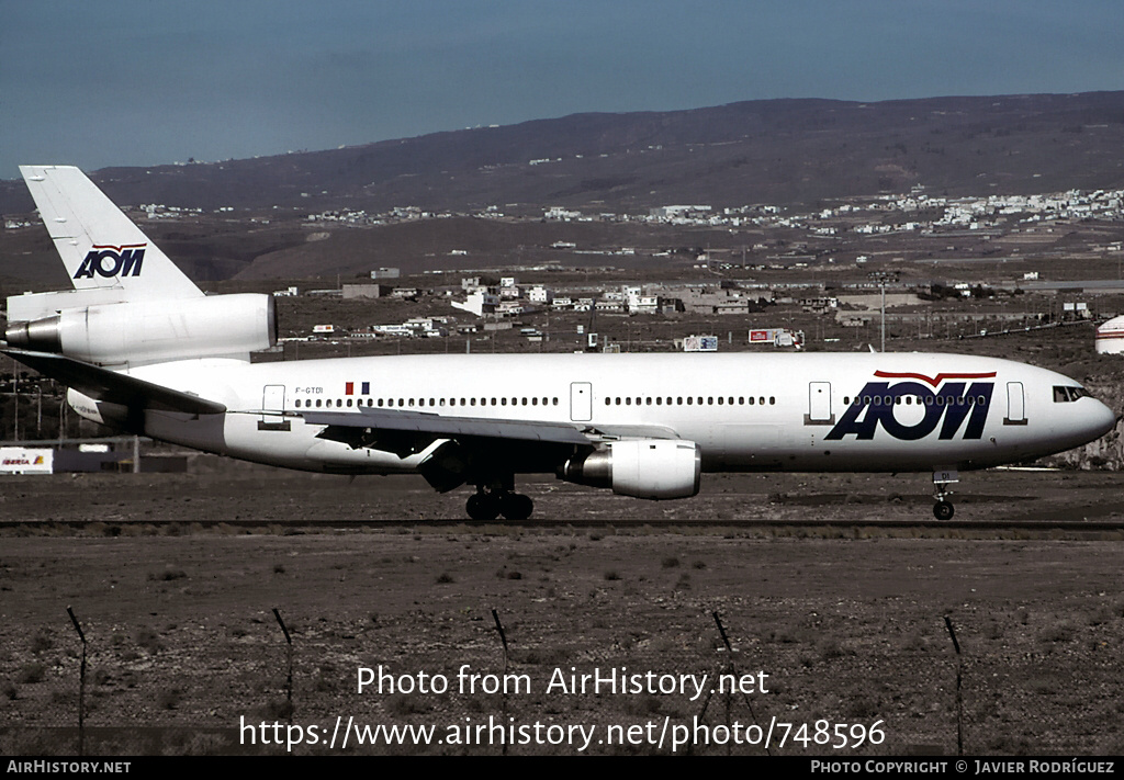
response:
M958 470L1090 442L1115 417L1061 374L948 354L417 355L251 363L273 299L205 296L78 169L20 169L74 290L8 299L16 360L83 417L259 463L474 486L522 520L516 474L649 499L701 472Z

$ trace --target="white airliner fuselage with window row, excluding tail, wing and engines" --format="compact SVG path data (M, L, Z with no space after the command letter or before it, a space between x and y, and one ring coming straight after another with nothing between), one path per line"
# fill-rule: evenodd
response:
M192 360L130 372L225 403L224 415L147 411L151 436L311 471L413 471L318 438L308 411L360 406L572 424L699 445L705 471L978 469L1107 433L1113 412L1045 369L991 357L886 353L411 355L245 363ZM1057 391L1055 388L1070 390ZM72 393L80 414L105 405ZM89 414L93 412L93 414Z

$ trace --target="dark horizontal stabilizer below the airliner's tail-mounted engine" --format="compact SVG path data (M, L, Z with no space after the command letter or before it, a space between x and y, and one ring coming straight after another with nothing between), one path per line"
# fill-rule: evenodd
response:
M72 357L26 350L9 348L2 352L44 377L57 380L98 401L120 403L134 409L182 411L189 415L218 415L226 411L226 407L218 401L209 401Z

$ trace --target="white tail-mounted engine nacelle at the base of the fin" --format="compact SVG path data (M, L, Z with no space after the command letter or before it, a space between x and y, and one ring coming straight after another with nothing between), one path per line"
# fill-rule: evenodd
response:
M254 293L123 301L9 323L4 335L21 350L99 365L241 356L277 344L277 308Z

